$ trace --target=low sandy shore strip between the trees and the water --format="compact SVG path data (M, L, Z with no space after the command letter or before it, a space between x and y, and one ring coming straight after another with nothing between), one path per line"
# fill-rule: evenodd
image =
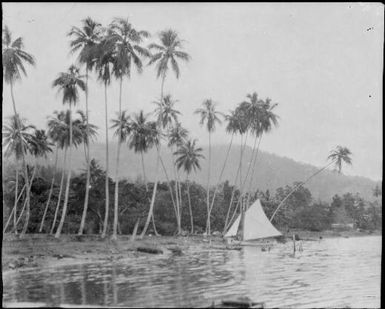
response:
M286 241L297 234L303 241L327 238L350 238L382 236L382 231L322 231L290 230L283 233ZM130 240L130 235L118 235L118 240L100 239L99 235L62 235L60 239L46 234L27 234L19 239L14 234L3 235L2 270L3 278L19 270L47 269L84 263L129 261L140 256L180 255L191 245L207 246L210 240L202 235L194 236L146 236ZM220 236L211 237L211 245L225 247Z

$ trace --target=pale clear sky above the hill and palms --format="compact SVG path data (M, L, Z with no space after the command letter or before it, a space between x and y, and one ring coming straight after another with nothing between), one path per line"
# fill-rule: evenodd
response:
M182 124L199 144L207 133L193 115L206 98L228 112L256 91L278 103L280 125L266 135L261 149L316 166L343 145L353 152L348 175L382 179L382 74L384 7L360 3L3 3L3 23L24 38L36 67L15 87L19 112L39 128L62 110L51 88L59 72L75 61L66 34L87 16L107 25L128 17L136 29L153 36L175 29L191 55L172 74L166 93L178 100ZM147 112L159 97L154 67L124 81L123 108ZM9 87L3 90L3 117L12 114ZM118 87L109 92L109 118L118 110ZM84 96L78 108L84 109ZM90 83L90 121L104 141L104 92ZM4 118L3 118L4 120ZM110 136L112 134L110 133ZM213 143L228 143L224 126ZM239 143L239 141L238 141ZM250 145L252 145L250 140Z

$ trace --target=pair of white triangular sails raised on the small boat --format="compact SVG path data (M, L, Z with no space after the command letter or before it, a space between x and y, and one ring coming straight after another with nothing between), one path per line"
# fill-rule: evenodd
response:
M237 235L241 216L234 221L225 237ZM252 240L282 235L269 221L263 211L260 200L256 200L245 212L244 239Z

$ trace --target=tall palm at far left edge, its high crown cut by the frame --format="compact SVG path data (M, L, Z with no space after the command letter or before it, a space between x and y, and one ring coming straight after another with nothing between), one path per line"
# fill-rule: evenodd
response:
M24 63L34 66L35 60L32 55L30 55L24 50L23 38L18 37L13 41L11 31L6 25L4 26L2 32L3 32L2 33L3 76L4 76L5 83L10 85L12 106L13 106L13 112L15 116L14 124L16 125L16 129L17 129L20 120L18 118L18 113L16 110L15 97L13 93L13 85L17 80L21 79L21 73L27 76ZM25 184L26 185L26 203L27 203L27 209L29 209L30 208L30 191L29 191L30 186L29 186L29 180L28 180L27 165L25 163L25 152L24 152L25 149L22 146L20 149L22 150L22 152L20 153L19 159L22 160L22 168L24 171L24 178L26 181L26 184ZM15 215L16 215L16 211L15 211Z

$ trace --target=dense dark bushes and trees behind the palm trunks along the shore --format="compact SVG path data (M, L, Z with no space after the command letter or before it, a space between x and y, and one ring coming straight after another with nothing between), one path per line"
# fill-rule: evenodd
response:
M45 202L47 200L50 181L49 179L55 173L53 167L41 167L39 176L35 177L34 184L31 188L31 219L28 232L36 233L39 231L41 217L44 212ZM3 185L4 194L4 218L5 226L11 206L14 203L14 167L9 166L4 171ZM51 198L51 205L48 208L47 218L43 226L43 232L49 232L54 219L55 205L59 195L60 171L56 171L56 183ZM104 176L105 171L92 161L91 164L91 189L90 189L90 205L89 215L85 226L85 233L97 234L103 231L104 217ZM83 173L75 175L71 181L70 201L67 219L63 227L65 233L76 233L82 216L82 202L84 200L84 185L86 182L86 170ZM114 182L110 179L110 189L114 188ZM206 191L201 185L192 182L188 184L190 187L189 194L191 198L191 208L193 212L194 233L202 233L206 227L205 216L205 198ZM260 198L262 206L268 217L271 216L276 209L279 201L281 201L288 192L292 190L296 184L279 188L274 193L267 191L256 191L251 197L251 201ZM22 189L23 181L19 182L19 190ZM154 183L149 183L150 190L146 190L143 181L130 183L121 180L119 183L119 225L118 233L130 234L133 231L136 221L139 219L138 232L141 232L146 214L149 210L149 198L151 197L151 189ZM224 222L231 199L233 187L228 181L223 182L217 192L217 199L212 211L211 226L213 231L222 232ZM110 200L113 200L113 190L110 190ZM235 191L239 196L239 190ZM190 232L191 217L187 204L187 183L181 182L182 201L182 229L183 233ZM301 187L287 200L285 207L278 212L273 219L273 224L281 231L289 229L305 229L311 231L322 231L331 228L332 223L354 223L356 228L364 230L381 229L382 212L381 212L381 189L375 188L374 195L376 200L368 202L363 200L359 194L347 193L343 196L334 196L330 203L314 201L311 192L306 187ZM111 214L112 209L110 208ZM239 214L239 210L237 211ZM59 214L60 216L60 214ZM113 218L113 216L109 216ZM174 235L178 232L175 212L172 206L168 184L163 182L158 185L158 195L156 208L154 211L156 231L161 235ZM23 218L21 220L24 220ZM110 219L109 226L112 226ZM21 225L22 226L22 225ZM11 224L9 231L12 230ZM20 229L20 228L19 228ZM150 233L154 234L154 227L149 228Z

